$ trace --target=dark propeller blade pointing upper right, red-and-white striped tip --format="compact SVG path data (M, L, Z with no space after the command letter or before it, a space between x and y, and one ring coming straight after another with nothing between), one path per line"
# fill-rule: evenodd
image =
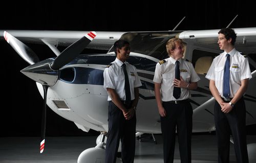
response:
M65 49L52 63L51 68L57 70L62 66L68 64L77 55L79 55L84 48L96 37L96 32L90 32L84 35L82 38L71 44Z

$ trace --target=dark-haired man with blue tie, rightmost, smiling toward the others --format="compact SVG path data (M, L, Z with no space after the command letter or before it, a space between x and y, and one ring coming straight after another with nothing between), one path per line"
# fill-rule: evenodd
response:
M219 163L229 162L229 140L232 133L237 162L248 163L243 95L251 78L250 67L248 60L234 49L237 38L234 30L223 28L218 34L218 44L224 52L212 61L205 76L210 80L209 89L216 100L214 117L218 160Z

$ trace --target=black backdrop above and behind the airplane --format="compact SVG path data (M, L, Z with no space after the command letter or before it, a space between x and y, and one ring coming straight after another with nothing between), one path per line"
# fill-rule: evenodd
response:
M1 2L0 30L166 31L256 27L255 6L249 1L22 1ZM40 60L55 56L47 46L27 44ZM35 82L19 71L29 64L0 40L1 134L39 136L42 98ZM84 53L105 53L86 50ZM4 98L3 98L4 97ZM255 134L255 125L248 127ZM46 136L92 135L47 109Z

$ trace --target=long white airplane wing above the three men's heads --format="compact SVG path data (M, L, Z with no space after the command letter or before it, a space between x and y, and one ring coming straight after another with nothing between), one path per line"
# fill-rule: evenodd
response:
M185 42L205 46L219 50L218 47L218 32L216 30L196 30L196 31L177 31L179 38ZM236 49L245 54L256 53L256 28L236 28L237 33ZM90 31L39 31L39 30L7 30L15 38L23 42L47 44L53 51L56 46L69 46L77 39L81 38L84 33ZM96 31L97 32L97 31ZM143 34L145 32L97 32L97 37L87 46L88 49L110 50L111 46L121 36L134 37L135 34ZM158 36L167 37L170 31L147 32L157 33ZM4 31L0 30L0 36L3 36ZM125 34L125 35L123 35ZM0 37L3 39L3 37ZM129 40L130 41L130 40ZM57 56L58 54L55 53Z

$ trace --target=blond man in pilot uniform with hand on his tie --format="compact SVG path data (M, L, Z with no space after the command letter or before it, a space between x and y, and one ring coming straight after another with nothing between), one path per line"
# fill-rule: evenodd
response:
M188 98L189 90L197 88L200 78L193 64L182 58L184 49L181 39L168 40L166 51L170 57L157 63L153 79L161 119L164 162L174 161L177 127L181 163L190 163L193 108ZM176 78L177 74L180 79ZM178 94L174 93L175 89Z

